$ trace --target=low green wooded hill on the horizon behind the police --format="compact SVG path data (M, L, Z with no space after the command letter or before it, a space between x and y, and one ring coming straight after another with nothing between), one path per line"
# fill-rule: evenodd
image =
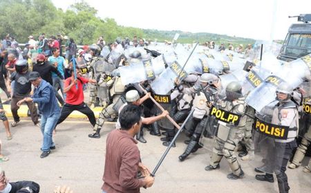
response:
M146 39L158 39L158 41L172 41L173 37L176 33L180 34L178 38L179 43L193 43L194 41L199 41L200 43L204 43L206 41L214 41L216 44L220 45L220 43L232 43L233 45L243 44L246 45L248 43L255 43L254 39L247 39L242 37L229 37L223 34L211 34L211 33L191 33L191 32L182 32L178 30L173 31L164 31L164 30L149 30L143 29L144 37ZM234 47L235 47L234 46Z

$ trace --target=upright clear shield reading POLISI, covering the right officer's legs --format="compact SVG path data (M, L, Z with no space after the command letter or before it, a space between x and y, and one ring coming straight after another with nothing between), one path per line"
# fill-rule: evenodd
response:
M256 114L252 132L255 159L250 161L250 164L261 172L278 175L281 172L281 166L284 165L283 159L290 159L292 152L288 152L286 143L283 143L286 139L290 139L288 136L290 127L272 121L270 112L273 112L274 105L271 104L260 114ZM263 160L265 160L264 163Z

